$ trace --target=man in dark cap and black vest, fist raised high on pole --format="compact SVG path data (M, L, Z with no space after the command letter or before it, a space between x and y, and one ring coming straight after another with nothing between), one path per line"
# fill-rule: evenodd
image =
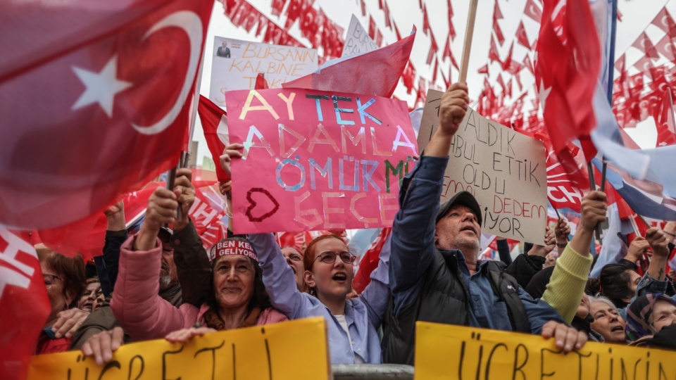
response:
M413 364L418 320L554 336L566 352L587 341L547 303L525 293L503 272L503 264L477 261L482 216L472 194L458 193L439 208L451 140L468 103L465 84L444 93L439 129L401 186L392 229L393 302L384 324L384 362Z

